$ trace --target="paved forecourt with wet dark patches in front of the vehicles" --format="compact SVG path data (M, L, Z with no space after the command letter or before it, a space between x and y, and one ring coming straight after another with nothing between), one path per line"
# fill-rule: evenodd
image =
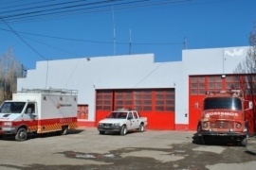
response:
M0 140L0 169L255 169L256 138L242 147L193 144L193 137L193 131L169 130L99 135L96 128L31 135L25 142L7 137Z

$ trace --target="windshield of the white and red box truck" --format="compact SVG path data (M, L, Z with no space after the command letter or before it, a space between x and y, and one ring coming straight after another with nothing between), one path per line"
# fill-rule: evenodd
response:
M4 102L0 108L0 113L21 113L26 102Z

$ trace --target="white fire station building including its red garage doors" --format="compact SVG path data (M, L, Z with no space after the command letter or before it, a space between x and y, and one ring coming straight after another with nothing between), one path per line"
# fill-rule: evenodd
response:
M186 49L181 61L167 62L155 62L154 54L37 61L18 79L17 91L78 90L81 127L96 127L111 110L126 108L148 117L151 129L195 130L201 114L194 103L208 90L239 83L234 70L248 48Z

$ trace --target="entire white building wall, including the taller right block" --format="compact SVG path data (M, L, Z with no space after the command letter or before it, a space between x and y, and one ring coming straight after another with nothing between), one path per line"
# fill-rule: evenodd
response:
M95 121L95 90L175 88L175 124L189 124L189 76L232 74L248 47L182 51L182 61L155 62L154 54L38 61L35 70L18 79L18 91L73 89L78 103L89 105Z

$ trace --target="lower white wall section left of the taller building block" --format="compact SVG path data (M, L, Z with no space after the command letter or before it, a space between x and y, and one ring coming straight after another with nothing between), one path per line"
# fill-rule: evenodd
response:
M74 89L78 103L89 105L89 121L95 120L95 90L175 88L182 92L182 62L155 62L153 54L38 61L27 78L18 79L18 91L26 89ZM183 100L176 94L176 101ZM184 122L184 114L176 121ZM187 122L187 120L185 121Z

